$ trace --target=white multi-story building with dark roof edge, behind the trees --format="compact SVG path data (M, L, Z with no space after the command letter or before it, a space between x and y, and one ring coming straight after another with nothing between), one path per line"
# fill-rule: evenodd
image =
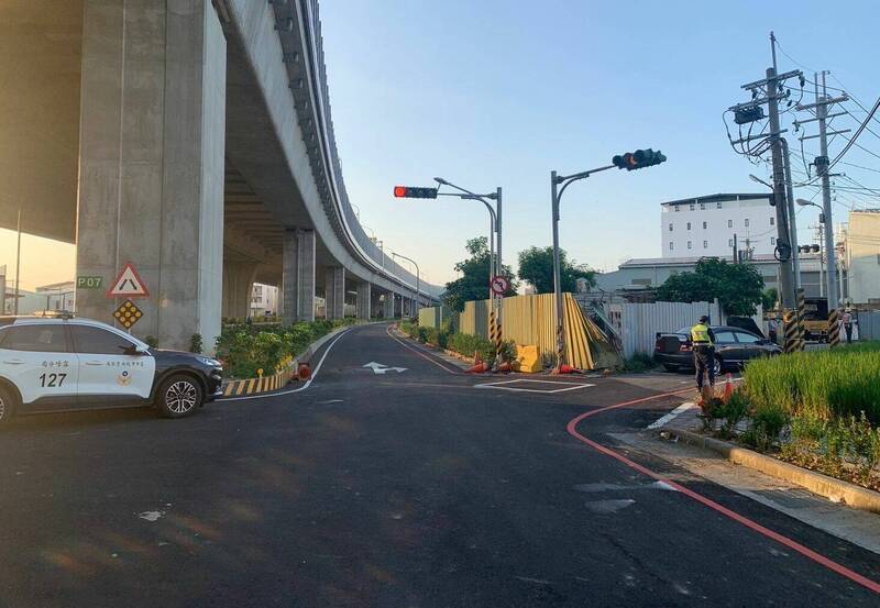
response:
M661 203L663 257L733 257L737 250L772 254L777 214L770 195L711 195Z

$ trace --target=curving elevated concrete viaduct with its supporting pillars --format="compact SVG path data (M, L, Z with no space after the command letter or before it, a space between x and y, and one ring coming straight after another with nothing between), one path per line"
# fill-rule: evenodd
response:
M328 318L409 312L416 277L345 191L316 0L4 0L0 82L0 226L21 208L105 284L133 263L133 333L213 344L254 281L287 322L317 296ZM121 301L81 288L77 312Z

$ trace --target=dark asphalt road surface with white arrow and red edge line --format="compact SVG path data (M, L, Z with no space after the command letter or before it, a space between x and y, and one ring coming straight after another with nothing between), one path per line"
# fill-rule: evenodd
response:
M880 605L876 554L615 444L685 376L465 376L385 325L331 344L305 390L185 420L16 421L0 606Z

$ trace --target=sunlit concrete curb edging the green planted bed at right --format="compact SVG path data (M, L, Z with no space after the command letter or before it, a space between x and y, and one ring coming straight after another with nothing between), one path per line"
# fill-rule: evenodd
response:
M693 431L671 428L659 429L659 431L666 431L675 435L681 441L691 445L712 450L723 455L732 463L748 466L749 468L755 468L761 473L772 475L773 477L798 484L813 494L828 498L833 502L845 502L855 509L880 513L880 493L850 484L849 482L844 482L843 479L835 479L822 473L802 468L771 456L765 456L763 454L759 454L746 447L733 445L726 441L703 436Z

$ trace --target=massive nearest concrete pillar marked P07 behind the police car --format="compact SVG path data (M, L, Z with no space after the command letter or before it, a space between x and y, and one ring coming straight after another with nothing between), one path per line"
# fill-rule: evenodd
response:
M77 275L127 262L148 297L133 333L210 349L220 333L227 42L208 0L86 0ZM123 298L77 289L82 317Z

